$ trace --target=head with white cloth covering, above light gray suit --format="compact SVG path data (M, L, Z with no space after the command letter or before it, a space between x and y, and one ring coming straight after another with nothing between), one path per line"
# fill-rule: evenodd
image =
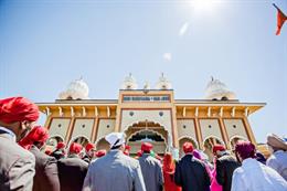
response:
M109 147L111 150L125 150L125 134L123 132L110 132L108 134L105 139L107 140L107 142L109 144Z

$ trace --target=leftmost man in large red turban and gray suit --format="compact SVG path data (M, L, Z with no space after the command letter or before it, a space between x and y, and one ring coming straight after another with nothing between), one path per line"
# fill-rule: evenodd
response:
M0 99L0 190L31 191L35 158L15 141L39 118L38 106L23 97Z

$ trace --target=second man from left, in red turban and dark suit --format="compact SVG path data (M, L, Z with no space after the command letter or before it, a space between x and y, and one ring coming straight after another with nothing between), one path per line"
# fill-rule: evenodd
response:
M40 151L47 138L47 130L36 126L19 142L35 156L33 191L60 191L56 159Z

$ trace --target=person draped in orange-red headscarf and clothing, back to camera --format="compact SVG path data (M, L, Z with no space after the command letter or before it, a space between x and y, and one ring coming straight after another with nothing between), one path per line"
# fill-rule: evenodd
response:
M176 163L172 155L167 152L163 157L162 172L164 179L164 191L181 191L181 187L174 182Z

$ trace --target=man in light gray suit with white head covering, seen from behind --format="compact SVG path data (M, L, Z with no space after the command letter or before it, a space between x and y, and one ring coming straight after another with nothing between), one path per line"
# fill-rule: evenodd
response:
M123 153L125 135L111 132L105 139L110 151L91 163L83 191L146 191L139 162Z

